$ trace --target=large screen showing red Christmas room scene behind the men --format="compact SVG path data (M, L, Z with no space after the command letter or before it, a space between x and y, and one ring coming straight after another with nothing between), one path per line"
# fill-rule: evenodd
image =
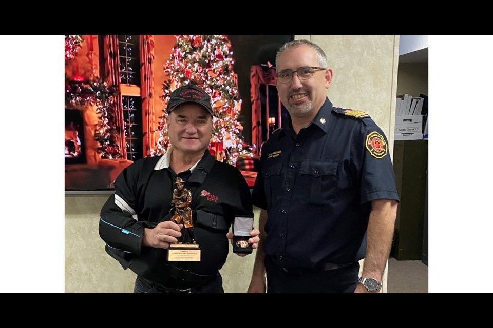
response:
M287 111L275 55L293 35L65 35L65 190L111 190L132 162L170 146L169 95L194 84L215 112L209 150L256 177Z

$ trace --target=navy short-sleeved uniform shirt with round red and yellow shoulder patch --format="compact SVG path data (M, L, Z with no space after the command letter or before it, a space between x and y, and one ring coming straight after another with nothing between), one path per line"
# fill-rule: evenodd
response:
M252 196L268 212L266 254L308 268L364 258L370 201L399 200L382 130L328 98L298 135L288 117L269 138Z

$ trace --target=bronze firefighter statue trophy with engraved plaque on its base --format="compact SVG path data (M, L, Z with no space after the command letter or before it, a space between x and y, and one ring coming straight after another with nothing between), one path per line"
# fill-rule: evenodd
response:
M200 261L200 248L194 237L194 222L192 220L192 192L185 188L185 181L181 177L176 178L176 188L173 190L171 204L175 206L175 214L170 220L176 224L183 222L185 230L190 236L191 242L170 244L168 249L168 261ZM186 232L185 232L186 233ZM182 238L185 236L183 235Z

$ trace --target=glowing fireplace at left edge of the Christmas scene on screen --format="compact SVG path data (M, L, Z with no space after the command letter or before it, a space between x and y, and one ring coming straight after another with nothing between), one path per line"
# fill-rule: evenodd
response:
M84 126L82 111L65 109L65 164L84 164Z

